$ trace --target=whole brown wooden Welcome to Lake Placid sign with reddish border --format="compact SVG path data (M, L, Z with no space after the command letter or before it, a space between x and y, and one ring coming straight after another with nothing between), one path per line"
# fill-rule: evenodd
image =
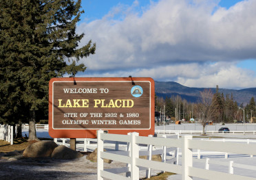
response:
M53 78L49 83L52 138L96 138L107 133L154 133L155 85L151 78Z

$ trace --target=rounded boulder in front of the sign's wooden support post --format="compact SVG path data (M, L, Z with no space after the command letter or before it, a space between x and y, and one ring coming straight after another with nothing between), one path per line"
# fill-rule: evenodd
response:
M78 157L83 157L83 154L64 145L56 147L52 152L52 158L54 159L76 159Z

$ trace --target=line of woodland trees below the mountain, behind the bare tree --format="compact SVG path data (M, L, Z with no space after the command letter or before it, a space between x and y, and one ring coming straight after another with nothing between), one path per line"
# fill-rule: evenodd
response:
M189 118L195 118L196 120L202 120L205 114L202 113L202 107L200 103L188 103L185 99L181 99L179 96L173 96L171 98L156 98L156 110L163 110L165 105L165 115L170 116L171 120L176 118L181 120L182 118L189 120ZM243 111L239 110L242 107L245 110L245 121L250 120L256 116L255 100L252 97L250 103L244 108L243 104L237 105L237 102L233 98L233 94L226 94L218 92L216 90L213 95L214 113L211 114L211 120L214 123L234 123L234 120L243 121ZM207 115L209 116L209 115Z

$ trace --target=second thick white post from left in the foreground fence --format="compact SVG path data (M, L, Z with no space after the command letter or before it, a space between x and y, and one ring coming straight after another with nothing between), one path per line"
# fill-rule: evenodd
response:
M136 159L139 158L139 147L136 144L136 136L138 133L131 133L131 179L137 180L139 179L140 170L138 166L136 166Z

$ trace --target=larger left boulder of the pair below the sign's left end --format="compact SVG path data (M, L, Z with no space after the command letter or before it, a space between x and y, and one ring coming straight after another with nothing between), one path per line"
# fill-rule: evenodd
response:
M51 157L57 146L53 141L34 142L24 150L23 157Z

